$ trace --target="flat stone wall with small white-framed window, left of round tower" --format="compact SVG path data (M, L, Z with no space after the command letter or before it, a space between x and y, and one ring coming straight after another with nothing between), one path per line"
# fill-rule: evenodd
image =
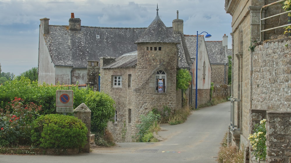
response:
M134 112L134 102L132 99L134 95L132 87L128 87L128 74L131 74L132 79L134 79L136 78L135 73L135 67L100 69L100 89L109 94L116 102L117 122L108 122L107 124L107 129L112 133L116 142L131 142L132 135L136 132L135 117L132 115L131 122L129 123L128 121L128 109L132 109L132 112ZM122 76L122 87L112 87L113 75ZM124 137L123 134L125 134Z

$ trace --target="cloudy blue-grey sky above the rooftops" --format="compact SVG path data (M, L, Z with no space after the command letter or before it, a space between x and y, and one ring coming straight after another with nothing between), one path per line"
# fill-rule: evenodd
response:
M206 41L228 35L231 48L231 16L225 0L0 0L0 64L2 72L19 75L38 66L38 34L42 18L51 25L68 25L71 12L81 25L96 27L148 27L156 16L167 27L184 20L184 34L206 31ZM205 33L203 33L205 35Z

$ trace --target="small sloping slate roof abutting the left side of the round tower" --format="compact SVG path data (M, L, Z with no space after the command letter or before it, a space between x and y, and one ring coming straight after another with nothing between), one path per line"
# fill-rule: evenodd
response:
M102 68L125 68L125 67L135 67L137 63L137 51L124 54L118 58L113 63L103 66Z

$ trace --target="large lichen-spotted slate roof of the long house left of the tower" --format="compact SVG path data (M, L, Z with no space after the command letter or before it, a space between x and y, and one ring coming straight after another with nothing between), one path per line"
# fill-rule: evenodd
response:
M88 60L99 61L102 56L118 57L136 51L134 42L145 29L81 26L81 31L70 31L67 25L49 25L49 34L44 38L55 65L87 67Z

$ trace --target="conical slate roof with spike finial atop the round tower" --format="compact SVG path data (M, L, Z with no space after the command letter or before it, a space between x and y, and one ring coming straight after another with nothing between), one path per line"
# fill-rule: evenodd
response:
M172 31L169 30L160 19L158 10L157 8L156 18L135 43L180 43L175 39Z

